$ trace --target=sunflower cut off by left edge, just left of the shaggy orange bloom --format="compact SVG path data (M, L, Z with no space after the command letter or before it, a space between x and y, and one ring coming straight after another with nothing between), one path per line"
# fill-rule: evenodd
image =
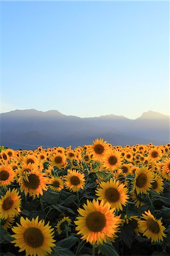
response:
M6 187L14 181L15 173L10 164L0 166L0 187Z

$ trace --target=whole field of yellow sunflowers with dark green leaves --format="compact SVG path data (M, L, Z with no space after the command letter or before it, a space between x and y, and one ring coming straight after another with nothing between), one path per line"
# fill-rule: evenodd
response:
M0 255L170 255L170 143L1 146L0 192Z

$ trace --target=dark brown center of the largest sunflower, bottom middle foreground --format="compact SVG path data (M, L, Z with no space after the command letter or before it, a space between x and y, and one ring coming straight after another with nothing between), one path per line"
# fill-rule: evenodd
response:
M101 232L106 226L106 217L101 212L91 212L86 217L86 226L92 232Z

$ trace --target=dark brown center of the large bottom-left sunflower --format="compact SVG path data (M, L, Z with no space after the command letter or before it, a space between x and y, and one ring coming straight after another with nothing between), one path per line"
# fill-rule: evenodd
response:
M27 245L37 248L43 245L44 236L38 228L27 228L23 234Z

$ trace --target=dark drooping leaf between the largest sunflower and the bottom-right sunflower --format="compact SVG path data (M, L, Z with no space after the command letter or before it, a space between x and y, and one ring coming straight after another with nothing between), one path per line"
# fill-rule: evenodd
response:
M130 248L134 237L134 229L132 228L132 226L124 224L121 228L121 234L119 234L119 237Z

